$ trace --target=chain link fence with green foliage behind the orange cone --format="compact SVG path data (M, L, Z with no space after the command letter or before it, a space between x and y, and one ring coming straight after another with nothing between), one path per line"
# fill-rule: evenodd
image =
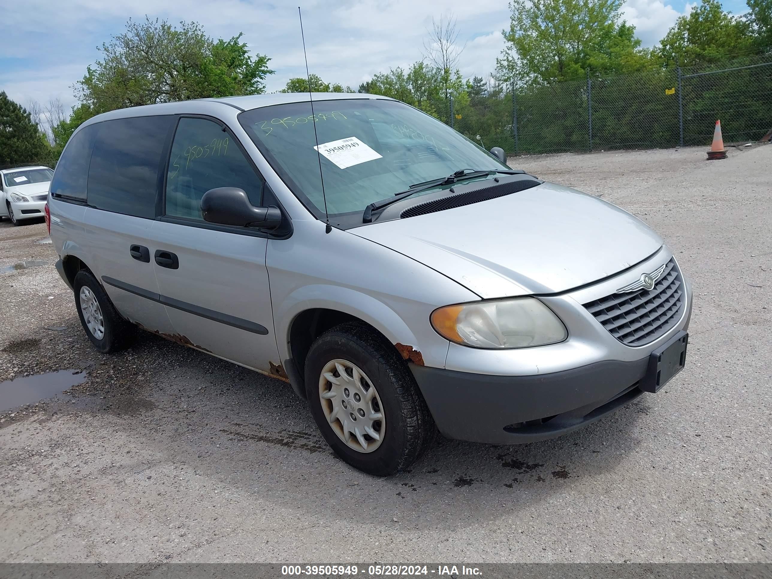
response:
M699 69L512 85L432 104L446 124L508 154L709 145L716 119L726 143L747 143L769 138L772 130L772 55Z

